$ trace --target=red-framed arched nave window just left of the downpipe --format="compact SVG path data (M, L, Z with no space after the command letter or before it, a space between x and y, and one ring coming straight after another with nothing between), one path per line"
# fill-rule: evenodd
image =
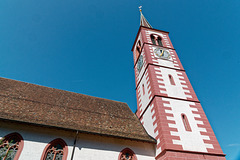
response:
M61 138L51 141L43 150L41 160L66 160L67 144Z

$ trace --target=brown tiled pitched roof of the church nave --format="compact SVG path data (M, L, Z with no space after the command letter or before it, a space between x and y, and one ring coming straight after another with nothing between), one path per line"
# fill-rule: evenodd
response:
M126 103L5 78L0 119L155 143Z

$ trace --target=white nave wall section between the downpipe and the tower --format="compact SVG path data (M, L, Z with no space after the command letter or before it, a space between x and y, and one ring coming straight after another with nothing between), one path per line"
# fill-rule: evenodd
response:
M74 160L117 160L119 153L130 148L138 160L154 160L154 145L130 140L105 138L101 136L80 135L77 141Z

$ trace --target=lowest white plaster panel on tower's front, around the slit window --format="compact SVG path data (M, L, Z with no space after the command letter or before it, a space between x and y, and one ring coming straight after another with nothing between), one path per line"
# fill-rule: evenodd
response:
M173 140L173 144L182 145L184 150L207 152L207 148L213 148L212 144L206 144L203 140L209 140L209 136L203 136L200 132L206 132L205 128L200 128L197 125L203 124L203 121L195 120L195 117L201 118L199 114L193 114L192 111L197 111L196 108L190 107L195 105L195 102L175 100L163 98L164 101L170 104L164 104L166 113L172 113L173 117L167 117L168 120L175 121L176 124L168 124L170 128L177 128L177 132L171 131L171 135L179 136L180 140ZM171 110L169 110L171 108ZM185 114L189 121L192 131L186 131L181 114Z

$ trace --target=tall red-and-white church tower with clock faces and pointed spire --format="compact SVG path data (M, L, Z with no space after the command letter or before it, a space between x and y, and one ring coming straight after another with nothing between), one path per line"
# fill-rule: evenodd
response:
M136 114L157 140L156 160L225 160L169 32L152 28L140 14L132 48Z

